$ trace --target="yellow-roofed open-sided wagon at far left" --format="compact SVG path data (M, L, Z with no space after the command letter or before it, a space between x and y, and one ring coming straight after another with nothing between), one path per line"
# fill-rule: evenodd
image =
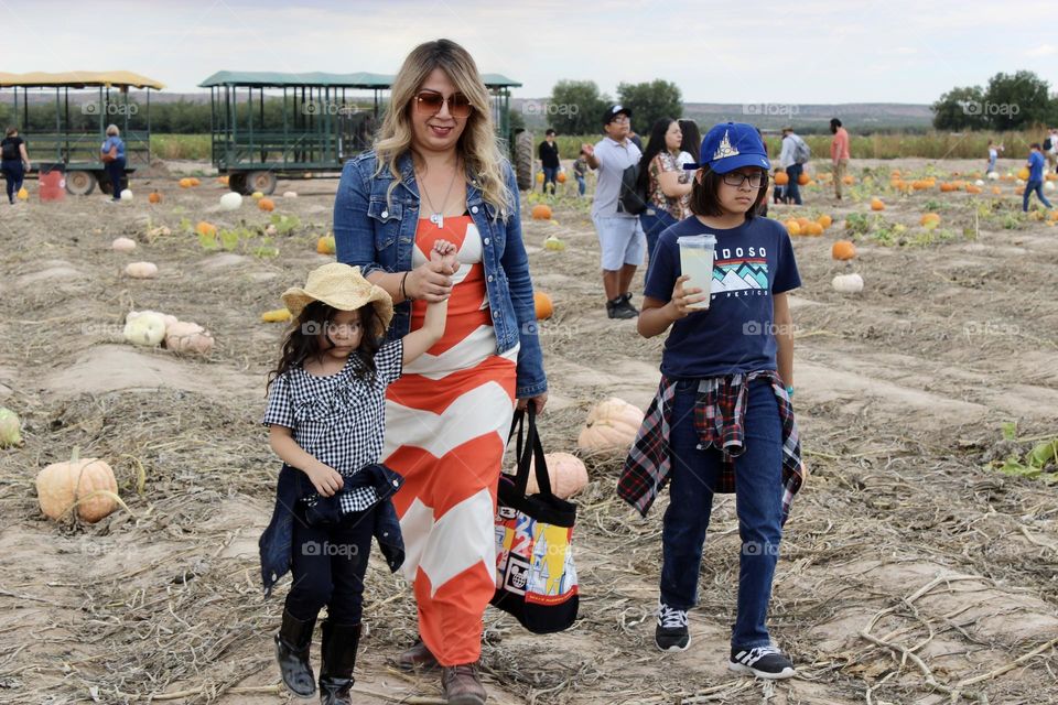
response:
M164 87L125 70L0 73L0 102L13 106L9 120L25 139L42 185L65 175L73 195L90 194L96 184L109 194L110 180L99 159L107 126L121 130L127 172L149 166L151 91ZM143 99L133 99L133 90L142 90Z

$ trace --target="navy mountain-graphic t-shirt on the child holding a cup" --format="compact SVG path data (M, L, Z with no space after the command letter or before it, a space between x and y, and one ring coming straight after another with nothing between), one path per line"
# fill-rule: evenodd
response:
M752 218L730 230L693 216L681 220L658 238L644 294L668 303L681 273L677 239L706 232L716 237L709 310L672 324L661 372L702 378L775 370L771 294L801 285L790 237L776 220Z

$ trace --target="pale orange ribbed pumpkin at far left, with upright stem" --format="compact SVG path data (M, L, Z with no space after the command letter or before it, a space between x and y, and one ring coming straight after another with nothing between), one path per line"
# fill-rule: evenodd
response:
M96 458L78 458L77 448L69 460L52 463L36 476L36 498L48 519L60 519L76 506L78 517L95 523L117 509L117 496L110 466Z

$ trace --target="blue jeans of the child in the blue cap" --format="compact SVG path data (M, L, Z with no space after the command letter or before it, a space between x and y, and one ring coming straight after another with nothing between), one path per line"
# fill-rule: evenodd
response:
M677 383L672 406L671 485L661 530L661 601L676 609L698 603L702 546L721 471L716 448L699 449L694 430L698 380ZM771 386L751 384L745 452L735 459L735 511L742 552L734 647L770 642L766 626L771 581L782 536L782 424Z

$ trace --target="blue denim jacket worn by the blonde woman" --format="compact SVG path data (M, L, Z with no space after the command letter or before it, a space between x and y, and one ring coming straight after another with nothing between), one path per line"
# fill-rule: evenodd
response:
M419 187L411 155L400 158L402 182L393 189L392 203L387 203L387 191L393 175L384 169L375 176L377 162L374 151L346 162L334 202L338 261L358 265L365 276L376 271L412 269L411 254L419 225ZM505 171L507 186L515 197L512 212L506 220L497 218L493 205L482 198L473 176L466 187L466 208L482 235L482 259L488 307L496 332L496 352L506 352L521 345L516 395L527 399L547 391L548 380L537 337L529 258L521 240L518 185L509 164L505 164ZM410 329L411 302L397 304L388 339L403 337Z

